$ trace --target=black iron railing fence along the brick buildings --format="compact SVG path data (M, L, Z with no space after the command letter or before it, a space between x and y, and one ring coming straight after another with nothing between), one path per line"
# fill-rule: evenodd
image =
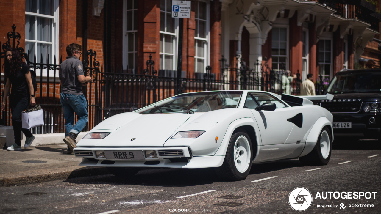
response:
M33 128L35 134L64 132L64 119L59 101L60 87L58 79L59 64L54 56L53 64L44 63L43 57L36 62L36 56L30 57L19 47L20 35L8 33L8 42L2 46L1 59L5 59L5 50L16 47L29 64L30 69L37 73L36 101L44 110L45 125ZM12 39L12 44L11 44ZM16 41L17 40L17 41ZM17 44L16 44L17 42ZM133 73L126 70L104 70L96 60L96 52L88 50L83 54L85 75L94 78L94 81L83 87L83 93L88 101L89 122L83 131L89 131L105 118L122 112L130 112L154 102L174 96L177 91L176 75L168 70L155 70L155 62L151 56L147 60L146 69ZM50 62L49 56L46 62ZM261 90L277 94L300 94L300 75L296 78L287 77L285 70L272 70L267 62L256 62L253 68L235 57L234 65L227 65L226 59L221 58L221 70L213 71L210 66L206 73L193 73L181 78L181 92L210 91L210 90ZM1 61L0 61L0 66ZM139 74L136 74L139 73ZM5 83L5 78L2 78ZM3 88L3 85L2 85ZM3 99L3 90L1 94ZM8 106L8 103L7 103ZM8 108L1 112L1 122L11 125L11 112Z

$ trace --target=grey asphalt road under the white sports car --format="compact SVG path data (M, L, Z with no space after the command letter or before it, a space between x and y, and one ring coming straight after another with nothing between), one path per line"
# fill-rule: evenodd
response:
M219 180L211 169L145 169L128 179L104 175L1 187L0 213L381 213L381 143L336 141L332 151L326 166L302 166L297 159L256 164L237 182ZM312 196L303 212L288 203L297 187ZM348 192L364 195L335 198ZM308 205L307 198L298 197Z

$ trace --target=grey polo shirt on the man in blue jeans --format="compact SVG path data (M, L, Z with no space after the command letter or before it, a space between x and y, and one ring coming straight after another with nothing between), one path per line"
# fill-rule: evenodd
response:
M78 80L79 75L84 75L82 62L75 56L66 57L66 60L59 65L61 92L82 95L82 83Z

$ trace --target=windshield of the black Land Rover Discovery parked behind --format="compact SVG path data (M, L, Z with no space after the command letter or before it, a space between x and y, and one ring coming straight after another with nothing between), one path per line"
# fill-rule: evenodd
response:
M348 72L337 74L328 86L330 94L374 93L381 91L381 72Z

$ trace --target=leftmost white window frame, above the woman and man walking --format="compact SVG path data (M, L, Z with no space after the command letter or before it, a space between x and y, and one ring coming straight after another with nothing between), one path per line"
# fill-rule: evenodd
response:
M59 20L59 0L53 0L54 1L54 8L56 8L56 10L54 11L54 14L53 16L50 16L50 15L45 15L45 14L40 14L40 13L32 13L32 12L27 12L25 11L25 15L28 15L28 16L35 16L35 40L30 40L30 39L25 39L25 42L34 42L35 43L35 53L36 53L36 63L40 63L41 61L40 60L37 60L38 57L41 56L41 54L38 54L39 56L37 56L37 43L42 43L42 44L49 44L49 45L52 45L52 55L53 56L49 56L50 57L50 62L46 62L47 60L47 54L44 56L44 54L42 55L43 56L43 63L48 63L48 64L54 64L54 56L56 56L56 61L55 61L55 64L58 64L59 63L59 49L58 49L58 46L59 46L59 24L58 24L58 20ZM40 3L40 1L36 1L37 2L37 10L38 10L38 4ZM37 17L40 17L40 18L47 18L47 19L52 19L52 41L51 42L47 42L47 41L41 41L41 40L37 40ZM26 24L26 23L25 23ZM26 53L28 53L28 50L24 50ZM31 62L34 62L34 56L29 56L29 61ZM44 69L45 71L45 69ZM46 73L43 72L43 73ZM53 75L53 72L51 71L50 72L52 75ZM37 74L38 76L38 74Z

